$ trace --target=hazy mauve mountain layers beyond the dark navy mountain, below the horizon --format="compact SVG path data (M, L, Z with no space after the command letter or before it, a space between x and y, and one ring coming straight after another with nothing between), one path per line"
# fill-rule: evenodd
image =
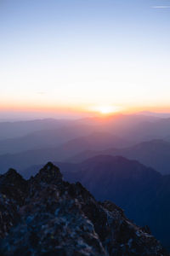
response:
M0 170L6 172L14 166L21 172L48 160L81 162L94 155L111 154L139 160L168 174L169 131L169 118L143 114L3 122L0 123Z

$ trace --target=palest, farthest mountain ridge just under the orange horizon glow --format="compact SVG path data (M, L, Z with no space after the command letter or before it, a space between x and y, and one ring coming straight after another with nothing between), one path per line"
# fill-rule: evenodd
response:
M133 121L134 119L134 121ZM25 137L27 134L32 133L34 131L53 131L62 127L68 126L85 126L86 129L92 126L93 131L105 131L105 127L110 124L113 125L121 125L130 123L134 125L134 123L140 123L143 120L152 120L155 119L153 117L145 117L140 115L139 117L133 117L133 115L114 115L110 117L110 119L99 119L99 118L85 118L85 119L33 119L26 121L0 121L0 140L5 140L8 138L15 137ZM111 131L111 130L110 130ZM69 131L68 131L69 132Z

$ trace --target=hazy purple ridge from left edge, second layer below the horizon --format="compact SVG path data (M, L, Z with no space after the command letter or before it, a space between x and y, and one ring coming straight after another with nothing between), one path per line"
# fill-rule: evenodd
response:
M55 126L55 125L54 125ZM3 139L0 141L0 154L15 154L27 150L52 148L68 142L76 137L90 134L92 128L86 125L64 125L51 130L34 131L22 137ZM16 147L17 145L17 147Z

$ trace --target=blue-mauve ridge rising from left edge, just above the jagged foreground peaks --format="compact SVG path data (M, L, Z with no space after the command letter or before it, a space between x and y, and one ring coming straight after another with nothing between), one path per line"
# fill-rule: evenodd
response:
M73 130L74 134L75 132L77 132L78 135L78 131L75 129ZM63 134L65 135L65 132ZM54 142L55 139L53 140L53 143ZM1 172L6 172L8 168L13 166L15 169L21 171L29 166L44 164L49 160L63 161L65 159L69 159L73 157L75 154L80 153L82 150L87 150L89 148L105 149L110 147L111 145L115 145L117 147L118 145L125 146L128 143L129 142L123 140L120 137L116 137L105 132L93 132L92 134L86 137L78 137L60 146L34 149L21 152L18 154L2 154L0 155L0 170Z

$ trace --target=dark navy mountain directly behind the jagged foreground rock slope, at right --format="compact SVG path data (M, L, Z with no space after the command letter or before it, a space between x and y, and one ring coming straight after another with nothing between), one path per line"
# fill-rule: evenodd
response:
M161 175L136 160L99 155L79 164L55 163L65 180L81 182L100 201L110 200L122 207L128 218L150 230L169 247L170 175ZM21 172L26 178L41 166Z

